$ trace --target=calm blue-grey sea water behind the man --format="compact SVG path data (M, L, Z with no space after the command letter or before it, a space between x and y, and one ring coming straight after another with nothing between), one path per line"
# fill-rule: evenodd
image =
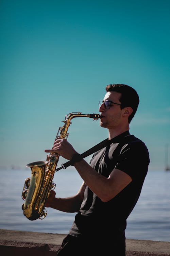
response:
M23 215L21 194L30 174L30 168L0 170L0 229L67 234L75 213L46 208L46 218L35 221ZM55 173L54 182L57 197L69 197L78 192L83 181L69 167ZM130 239L170 241L170 171L148 171L125 234Z

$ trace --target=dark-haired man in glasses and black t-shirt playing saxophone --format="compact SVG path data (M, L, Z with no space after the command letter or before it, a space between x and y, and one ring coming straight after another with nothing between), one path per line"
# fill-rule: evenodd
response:
M90 165L65 139L57 139L51 150L45 150L72 160L84 181L75 196L55 198L51 191L46 201L46 207L78 212L58 256L125 256L126 219L139 198L149 165L146 145L129 133L138 104L132 87L106 86L99 102L100 126L108 129L108 142L113 143L96 152Z

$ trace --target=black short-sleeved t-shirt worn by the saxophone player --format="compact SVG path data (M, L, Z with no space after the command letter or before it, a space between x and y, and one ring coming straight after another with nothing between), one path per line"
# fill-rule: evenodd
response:
M87 186L79 213L69 231L72 236L124 231L126 219L133 210L148 171L149 153L146 145L126 131L111 145L96 152L90 161L94 171L108 177L119 169L132 177L132 182L108 202L102 202Z

